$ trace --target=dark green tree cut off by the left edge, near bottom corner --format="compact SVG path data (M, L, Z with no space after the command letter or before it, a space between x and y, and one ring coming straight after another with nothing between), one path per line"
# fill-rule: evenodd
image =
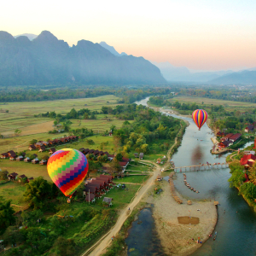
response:
M11 200L5 201L0 196L0 227L5 229L15 222L15 210L11 207Z

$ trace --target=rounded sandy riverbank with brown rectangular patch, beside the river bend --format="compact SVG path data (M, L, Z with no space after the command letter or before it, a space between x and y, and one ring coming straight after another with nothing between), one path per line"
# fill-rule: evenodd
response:
M192 201L188 205L181 195L178 196L183 204L178 204L172 198L169 183L163 181L160 187L163 192L148 196L146 201L154 204L153 217L161 246L167 255L189 255L212 234L218 219L217 208L213 201ZM177 217L183 216L199 218L199 224L179 224ZM198 237L202 243L195 242Z

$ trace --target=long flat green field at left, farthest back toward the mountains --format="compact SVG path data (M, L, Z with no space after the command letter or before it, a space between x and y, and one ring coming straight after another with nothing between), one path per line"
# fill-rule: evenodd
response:
M0 106L0 133L15 131L28 125L37 125L49 119L34 118L34 114L55 111L68 113L72 108L79 110L89 108L100 111L102 106L114 107L119 98L116 96L99 96L95 98L59 100L51 102L9 102ZM9 111L9 113L6 113Z

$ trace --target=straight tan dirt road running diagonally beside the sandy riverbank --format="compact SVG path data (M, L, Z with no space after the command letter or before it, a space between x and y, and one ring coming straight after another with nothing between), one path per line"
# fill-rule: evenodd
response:
M111 238L113 236L117 236L119 233L119 230L121 229L122 225L124 224L126 218L131 214L134 207L137 206L137 203L139 203L143 196L146 195L148 189L154 184L154 181L157 177L157 175L160 173L160 167L155 165L156 169L151 177L148 178L148 180L143 184L143 186L137 191L137 194L135 195L133 201L123 210L121 210L119 218L116 222L116 224L113 226L112 230L110 230L107 234L102 236L102 238L96 242L92 247L90 247L85 253L83 253L81 256L90 255L90 256L99 256L102 254L104 249L108 247L108 245L111 243ZM128 210L130 207L130 211ZM89 254L90 253L90 254Z

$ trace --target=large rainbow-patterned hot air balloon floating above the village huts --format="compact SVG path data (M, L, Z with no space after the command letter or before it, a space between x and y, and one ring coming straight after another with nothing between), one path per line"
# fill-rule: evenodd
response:
M73 148L56 151L47 163L49 177L66 196L72 196L84 181L88 167L84 154Z

